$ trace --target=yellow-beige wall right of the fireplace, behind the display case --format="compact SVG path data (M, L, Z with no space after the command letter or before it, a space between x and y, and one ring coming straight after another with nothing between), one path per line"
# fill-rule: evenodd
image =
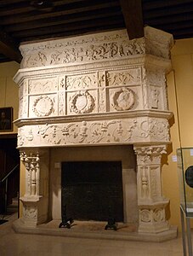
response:
M193 147L193 38L178 40L172 49L173 71L167 76L169 109L173 111L171 120L172 147L163 159L163 194L170 199L170 224L179 226L179 180L176 149ZM169 211L168 211L169 212Z

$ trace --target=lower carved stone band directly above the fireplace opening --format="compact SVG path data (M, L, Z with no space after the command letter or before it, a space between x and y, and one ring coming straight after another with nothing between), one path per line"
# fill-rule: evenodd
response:
M92 119L77 122L74 119L68 119L67 122L63 119L64 123L21 126L18 131L18 147L170 142L167 119L147 116L130 119L116 117L110 120L108 116L107 119ZM33 120L33 123L38 123L38 120Z

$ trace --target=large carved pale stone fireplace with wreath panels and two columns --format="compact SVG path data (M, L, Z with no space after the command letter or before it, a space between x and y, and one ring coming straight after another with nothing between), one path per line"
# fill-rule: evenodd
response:
M139 233L170 230L161 158L170 143L172 45L170 34L146 26L145 38L133 40L120 30L20 46L15 124L26 166L25 227L60 219L62 162L118 160L124 222L137 223Z

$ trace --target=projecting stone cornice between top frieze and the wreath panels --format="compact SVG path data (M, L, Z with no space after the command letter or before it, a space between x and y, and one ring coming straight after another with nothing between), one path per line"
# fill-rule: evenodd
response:
M103 71L104 68L109 70L116 70L117 68L122 67L123 69L144 66L150 68L159 68L162 69L165 73L168 73L171 70L171 61L163 59L154 55L138 55L132 56L130 58L125 58L122 60L113 60L113 61L100 61L89 64L81 65L57 65L57 66L48 66L48 67L31 67L31 68L22 68L14 76L14 82L20 84L23 79L43 75L58 75L65 73L78 73L87 70L87 73L93 71Z

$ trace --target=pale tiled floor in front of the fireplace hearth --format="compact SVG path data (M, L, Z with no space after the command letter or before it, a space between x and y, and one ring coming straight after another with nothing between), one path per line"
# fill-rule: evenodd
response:
M15 234L9 222L0 225L0 256L183 256L181 237L171 241L112 241Z

